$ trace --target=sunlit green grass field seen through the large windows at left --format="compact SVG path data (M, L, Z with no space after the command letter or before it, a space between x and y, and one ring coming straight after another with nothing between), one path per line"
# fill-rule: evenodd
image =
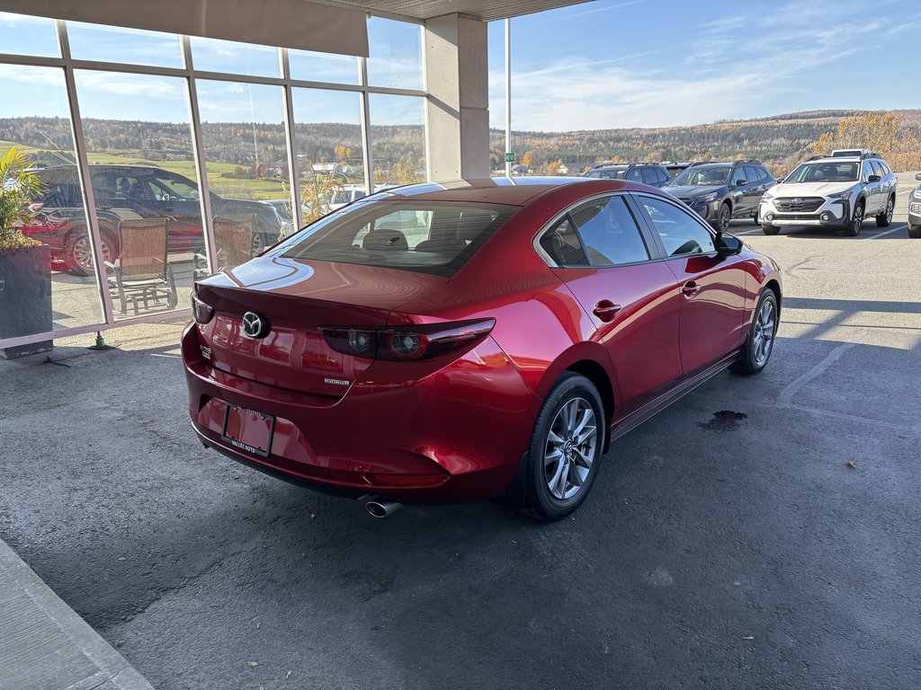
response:
M16 145L28 155L35 155L41 149L13 142L0 141L0 156ZM90 152L89 163L110 165L142 165L160 167L169 172L178 173L187 178L197 179L198 172L193 160L146 160L125 155L112 155ZM206 163L208 172L208 188L219 196L233 197L236 199L285 199L289 193L285 184L279 179L238 179L222 178L222 173L233 173L239 166L231 163Z

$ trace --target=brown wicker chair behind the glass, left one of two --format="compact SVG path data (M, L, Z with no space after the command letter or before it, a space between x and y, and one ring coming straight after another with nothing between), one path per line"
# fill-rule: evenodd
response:
M119 258L115 265L107 263L109 289L118 296L122 314L128 313L128 304L134 315L166 302L167 308L179 304L176 280L167 260L167 218L142 218L123 220L118 226Z

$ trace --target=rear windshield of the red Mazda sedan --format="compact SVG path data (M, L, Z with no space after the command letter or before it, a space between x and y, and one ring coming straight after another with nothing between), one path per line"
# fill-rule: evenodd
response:
M282 256L450 277L518 210L456 201L361 202L306 227Z

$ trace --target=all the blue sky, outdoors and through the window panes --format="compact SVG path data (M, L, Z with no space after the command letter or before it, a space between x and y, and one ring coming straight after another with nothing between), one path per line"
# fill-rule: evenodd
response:
M808 109L921 108L921 0L598 0L515 17L512 126L666 127ZM181 67L179 40L68 23L76 58ZM491 22L491 126L505 127L505 29ZM372 84L421 88L415 25L368 23ZM0 52L59 55L51 20L0 13ZM192 39L198 69L278 75L272 48ZM345 56L291 52L296 78L357 83ZM85 118L187 121L177 77L78 72ZM199 83L203 121L282 121L281 89ZM204 100L206 97L206 101ZM304 90L299 121L357 123L357 98ZM0 117L67 113L59 69L0 63ZM418 98L372 99L374 124L421 124Z

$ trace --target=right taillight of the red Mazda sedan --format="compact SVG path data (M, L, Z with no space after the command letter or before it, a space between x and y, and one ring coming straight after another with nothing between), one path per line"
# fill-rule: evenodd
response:
M321 328L323 338L337 352L390 362L431 360L460 350L481 339L495 326L495 318L431 326L394 328Z

